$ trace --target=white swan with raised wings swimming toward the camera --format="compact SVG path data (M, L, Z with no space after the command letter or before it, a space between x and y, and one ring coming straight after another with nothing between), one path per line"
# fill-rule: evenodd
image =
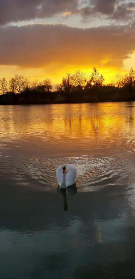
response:
M67 174L66 167L69 169ZM76 182L76 167L72 164L59 166L56 170L56 178L61 189L65 189L68 186L73 185Z

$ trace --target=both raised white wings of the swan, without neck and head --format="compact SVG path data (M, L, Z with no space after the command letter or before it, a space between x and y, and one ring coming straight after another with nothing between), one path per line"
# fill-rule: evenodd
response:
M68 164L67 168L69 169L66 174L66 187L73 185L76 182L76 167L72 164ZM62 183L62 165L56 170L56 178L58 185Z

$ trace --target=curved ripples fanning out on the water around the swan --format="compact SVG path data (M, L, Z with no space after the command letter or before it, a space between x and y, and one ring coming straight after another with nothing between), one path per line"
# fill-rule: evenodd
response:
M19 160L20 161L20 160ZM78 156L57 159L25 158L16 166L11 160L0 161L0 176L11 174L11 179L19 185L29 185L35 181L42 190L57 187L56 169L60 164L73 163L77 169L76 186L79 191L99 190L106 184L116 184L124 174L126 164L115 157ZM42 185L42 186L41 186Z

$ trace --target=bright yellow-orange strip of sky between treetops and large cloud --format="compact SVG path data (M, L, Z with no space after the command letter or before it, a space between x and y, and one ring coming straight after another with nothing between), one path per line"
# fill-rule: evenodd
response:
M38 79L39 82L44 80L45 78L50 78L53 84L59 84L62 81L63 76L65 76L68 72L73 73L76 70L80 70L86 73L86 76L89 77L89 74L92 72L94 66L100 73L103 74L105 78L105 84L110 83L112 77L115 76L116 73L125 74L131 67L133 67L135 63L135 53L131 55L130 59L124 60L124 66L122 69L116 68L100 68L96 65L86 66L75 66L75 65L67 65L67 64L48 64L42 68L21 68L18 66L7 66L0 65L0 78L4 77L9 81L11 77L17 74L23 74L29 80Z

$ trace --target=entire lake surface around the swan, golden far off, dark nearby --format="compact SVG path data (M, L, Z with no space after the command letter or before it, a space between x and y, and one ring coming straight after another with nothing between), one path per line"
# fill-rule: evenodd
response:
M0 106L0 278L135 278L134 154L134 102Z

